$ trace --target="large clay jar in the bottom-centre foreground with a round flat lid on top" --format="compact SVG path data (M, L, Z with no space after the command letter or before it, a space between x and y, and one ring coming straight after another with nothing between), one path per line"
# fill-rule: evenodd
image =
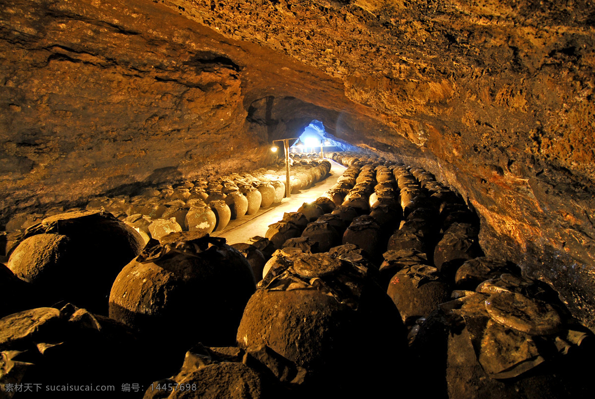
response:
M296 255L288 262L290 268L271 269L250 298L237 331L238 345L265 344L305 367L320 383L317 394L325 387L340 397L352 389L369 389L372 374L378 384L394 383L399 370L393 367L401 362L370 365L380 358L403 360L405 329L396 307L365 268L324 253ZM297 284L300 288L293 289ZM332 294L322 288L327 286L333 287Z

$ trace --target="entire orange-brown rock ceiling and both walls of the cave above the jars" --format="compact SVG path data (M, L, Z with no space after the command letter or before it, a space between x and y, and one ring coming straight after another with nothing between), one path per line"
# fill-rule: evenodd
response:
M486 254L594 328L594 15L585 0L5 1L2 220L262 166L317 119L455 187Z

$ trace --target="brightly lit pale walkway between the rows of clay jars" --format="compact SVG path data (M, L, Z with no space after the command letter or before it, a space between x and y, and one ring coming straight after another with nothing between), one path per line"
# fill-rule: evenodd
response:
M283 219L285 212L297 212L297 209L304 202L312 202L323 194L335 183L343 174L345 166L337 164L332 159L327 159L331 163L330 176L325 180L319 181L309 190L300 191L299 194L292 194L290 198L284 198L281 203L270 208L261 208L254 215L246 215L242 218L232 220L223 231L214 231L213 237L224 237L227 244L245 243L249 238L255 235L264 235L267 233L268 225Z

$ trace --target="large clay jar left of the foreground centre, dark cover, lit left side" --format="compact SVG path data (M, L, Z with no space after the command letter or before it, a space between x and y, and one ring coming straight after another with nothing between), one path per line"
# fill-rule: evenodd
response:
M230 345L255 290L250 265L224 238L193 232L167 238L118 274L109 317L151 340L156 351Z

